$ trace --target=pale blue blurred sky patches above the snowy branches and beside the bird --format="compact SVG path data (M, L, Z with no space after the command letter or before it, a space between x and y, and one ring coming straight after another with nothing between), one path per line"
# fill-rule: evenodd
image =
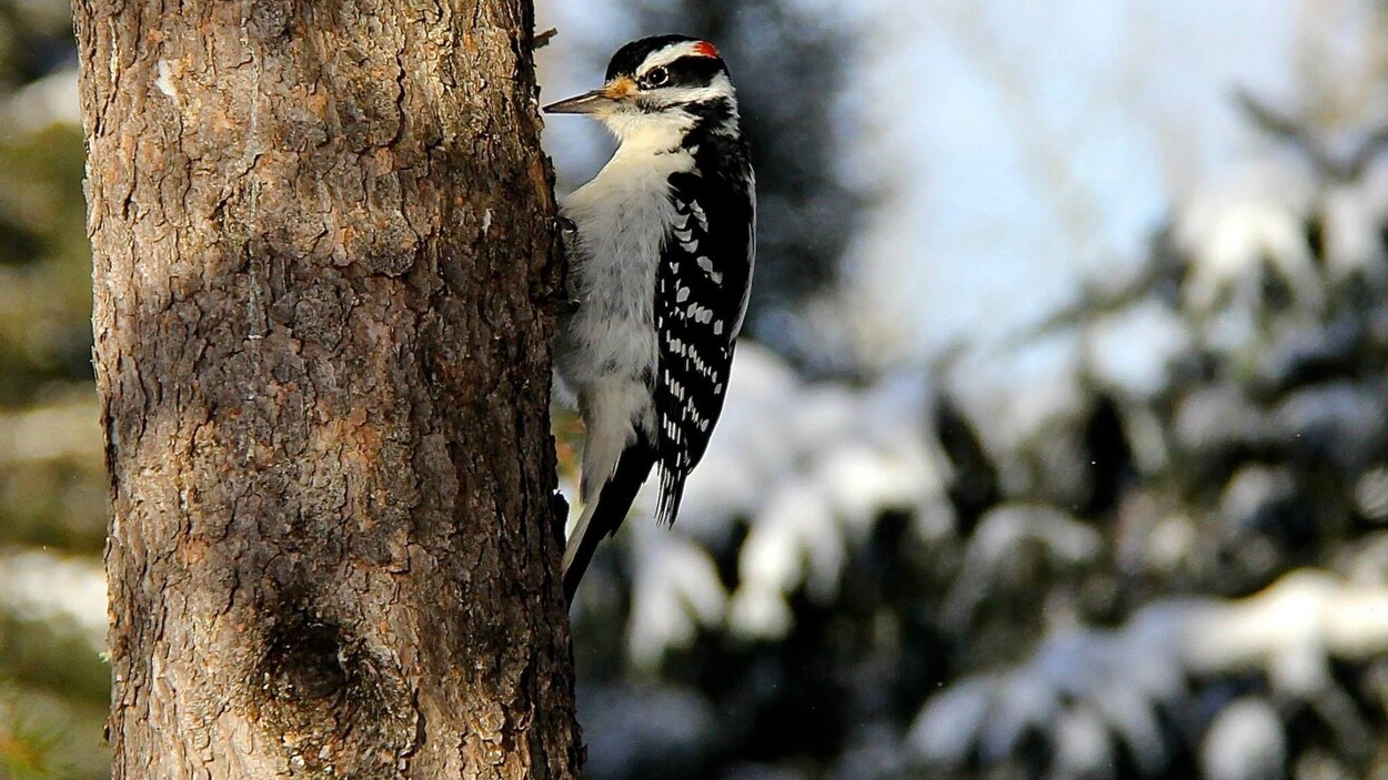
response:
M1266 153L1237 87L1288 110L1381 108L1346 86L1371 0L801 1L866 42L841 143L844 175L880 205L845 258L840 315L881 365L997 341L1085 275L1134 264L1174 200ZM613 0L541 3L548 25L547 96L589 89L607 51L661 32ZM561 183L604 149L579 125L547 129Z

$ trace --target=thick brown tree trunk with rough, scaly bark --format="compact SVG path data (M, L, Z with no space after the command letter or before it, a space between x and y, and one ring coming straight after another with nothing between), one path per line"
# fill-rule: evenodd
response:
M530 3L75 15L114 777L576 777Z

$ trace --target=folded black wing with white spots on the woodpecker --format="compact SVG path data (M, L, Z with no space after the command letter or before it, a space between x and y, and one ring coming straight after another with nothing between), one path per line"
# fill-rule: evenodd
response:
M655 516L666 525L675 522L684 477L704 457L723 411L733 343L747 311L755 219L750 173L744 180L676 173L670 185L679 217L655 280Z

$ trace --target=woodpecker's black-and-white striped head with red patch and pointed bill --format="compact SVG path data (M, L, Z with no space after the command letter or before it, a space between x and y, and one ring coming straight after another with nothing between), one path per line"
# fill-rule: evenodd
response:
M544 110L591 114L620 140L665 128L737 128L737 99L727 65L712 43L684 35L627 43L612 56L600 89Z

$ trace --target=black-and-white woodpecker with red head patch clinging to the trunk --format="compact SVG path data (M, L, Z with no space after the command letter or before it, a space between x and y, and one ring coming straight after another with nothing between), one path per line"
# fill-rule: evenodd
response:
M555 369L583 419L583 511L564 551L569 601L604 536L659 473L679 512L708 447L747 314L756 193L727 65L706 40L627 43L600 89L547 105L589 114L618 149L561 205L569 221Z

